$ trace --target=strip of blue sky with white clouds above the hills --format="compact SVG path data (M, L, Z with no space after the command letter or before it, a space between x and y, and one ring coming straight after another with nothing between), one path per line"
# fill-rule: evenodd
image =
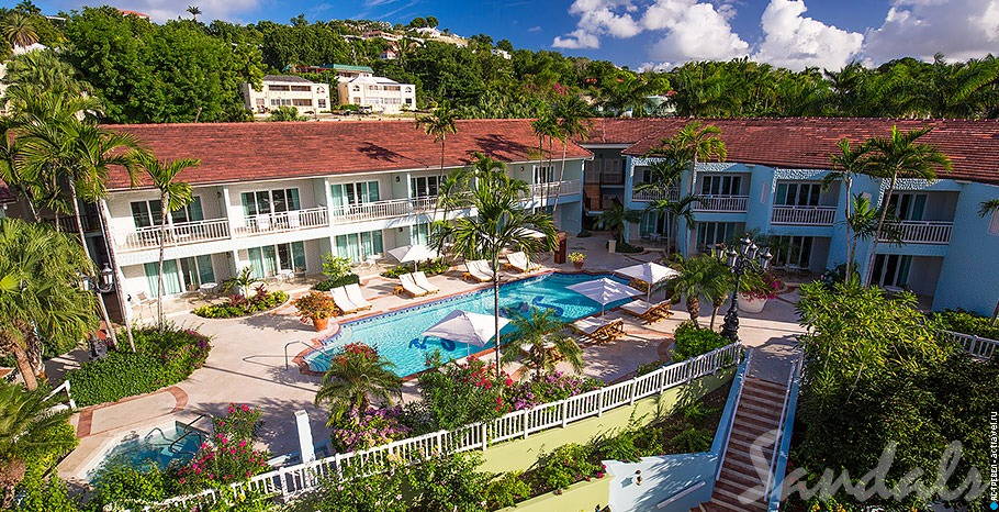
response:
M13 4L2 0L0 4ZM36 0L46 11L80 0ZM999 0L110 0L162 20L198 4L206 18L287 22L434 15L461 35L637 67L749 56L774 65L840 67L899 56L957 59L999 53Z

